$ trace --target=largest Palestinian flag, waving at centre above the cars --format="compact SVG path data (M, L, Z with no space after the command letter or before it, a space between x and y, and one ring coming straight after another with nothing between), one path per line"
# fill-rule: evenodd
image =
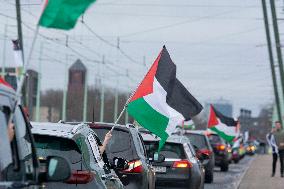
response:
M159 149L177 125L202 110L201 104L176 78L176 65L163 47L127 105L128 113L161 138Z

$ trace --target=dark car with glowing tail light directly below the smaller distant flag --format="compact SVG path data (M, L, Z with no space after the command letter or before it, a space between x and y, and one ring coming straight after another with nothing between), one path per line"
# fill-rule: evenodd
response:
M207 136L214 151L215 165L219 166L221 171L228 171L230 154L228 152L227 143L216 133L208 133Z

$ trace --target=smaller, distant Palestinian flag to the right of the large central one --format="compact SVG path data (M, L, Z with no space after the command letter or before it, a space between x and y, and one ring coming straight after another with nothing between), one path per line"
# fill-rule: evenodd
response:
M232 142L239 134L239 122L224 116L212 105L209 111L208 129L215 131L224 140Z

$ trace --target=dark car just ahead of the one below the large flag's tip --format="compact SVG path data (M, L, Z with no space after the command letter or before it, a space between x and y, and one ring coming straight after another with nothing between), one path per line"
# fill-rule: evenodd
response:
M205 182L212 183L214 178L215 157L214 152L209 142L209 139L204 131L185 131L184 136L189 138L191 144L197 147L196 153L199 156L201 153L208 155L209 159L202 162L205 168Z

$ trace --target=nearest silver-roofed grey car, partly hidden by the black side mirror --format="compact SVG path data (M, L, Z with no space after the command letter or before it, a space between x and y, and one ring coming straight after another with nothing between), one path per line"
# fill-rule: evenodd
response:
M47 188L122 189L117 175L104 162L96 135L86 124L32 123L37 153L68 159L72 175L65 183L48 183Z

